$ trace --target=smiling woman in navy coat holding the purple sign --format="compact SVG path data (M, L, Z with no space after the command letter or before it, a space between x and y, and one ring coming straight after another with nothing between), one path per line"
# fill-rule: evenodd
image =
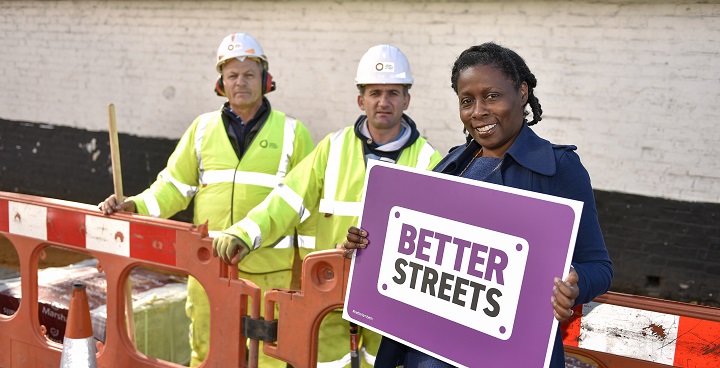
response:
M434 171L584 202L572 268L555 278L551 296L555 318L564 322L572 307L605 293L612 263L595 209L590 177L575 146L556 145L530 128L542 119L535 76L514 51L495 43L472 46L455 61L452 88L458 96L467 142L450 150ZM526 108L532 111L528 121ZM345 255L365 248L367 232L348 230ZM451 367L436 358L383 338L375 367ZM555 337L550 367L564 367L562 339Z

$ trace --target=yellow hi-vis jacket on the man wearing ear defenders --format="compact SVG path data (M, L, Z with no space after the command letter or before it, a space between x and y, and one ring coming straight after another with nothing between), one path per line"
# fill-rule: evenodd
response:
M211 235L245 217L313 149L300 121L271 110L264 125L238 159L222 110L200 115L178 142L167 167L144 192L132 198L138 213L168 218L195 198L193 222L208 222ZM249 273L292 267L293 230L278 234L274 247L238 265ZM279 239L279 240L278 240ZM278 252L280 250L280 252Z

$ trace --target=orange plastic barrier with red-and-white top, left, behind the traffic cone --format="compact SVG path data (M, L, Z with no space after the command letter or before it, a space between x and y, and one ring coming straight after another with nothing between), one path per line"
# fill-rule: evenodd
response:
M128 334L127 280L137 267L193 275L210 304L223 306L210 315L210 338L223 344L210 346L201 367L245 366L241 317L260 317L260 288L238 279L235 266L214 259L207 235L206 225L129 213L104 216L92 205L0 192L0 238L17 253L23 280L22 303L11 316L0 314L0 345L7 347L0 367L57 367L64 347L84 341L51 341L38 319L38 259L48 246L75 248L97 259L105 275L107 318L105 342L97 345L98 367L181 367L141 354Z

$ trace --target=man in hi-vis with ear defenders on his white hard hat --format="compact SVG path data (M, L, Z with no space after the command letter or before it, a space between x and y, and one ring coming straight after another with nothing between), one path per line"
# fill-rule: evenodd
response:
M149 189L122 203L110 196L100 204L105 214L129 211L168 218L195 198L193 222L207 221L210 235L215 236L245 217L310 153L313 141L305 125L273 109L265 98L274 90L274 82L257 40L244 33L225 37L215 68L220 73L216 93L227 97L227 102L193 121ZM263 292L289 288L293 234L293 227L288 227L277 234L272 246L246 257L238 264L238 276ZM210 307L205 291L192 276L186 310L192 321L190 363L195 366L208 351ZM273 361L285 367L284 362Z

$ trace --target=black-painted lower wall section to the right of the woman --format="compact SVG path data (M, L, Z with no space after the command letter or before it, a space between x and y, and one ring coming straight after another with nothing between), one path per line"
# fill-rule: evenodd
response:
M720 204L596 190L611 290L720 307Z

